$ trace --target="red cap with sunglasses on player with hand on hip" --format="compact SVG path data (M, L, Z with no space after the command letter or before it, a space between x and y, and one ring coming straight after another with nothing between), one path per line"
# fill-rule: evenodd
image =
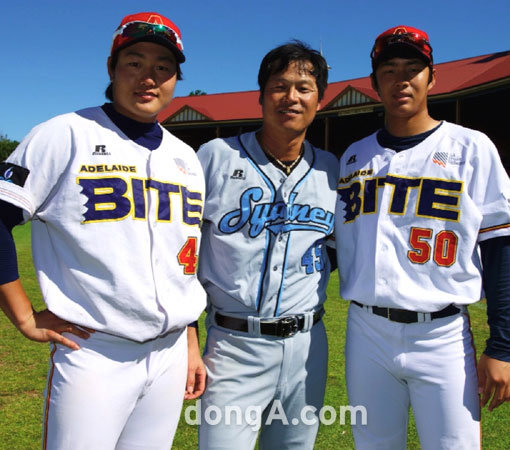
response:
M140 12L124 17L113 34L110 55L144 41L167 47L174 53L178 63L186 60L179 28L170 19L155 12Z

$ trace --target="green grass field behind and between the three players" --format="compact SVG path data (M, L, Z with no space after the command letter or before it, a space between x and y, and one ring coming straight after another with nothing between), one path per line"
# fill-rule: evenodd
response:
M32 267L29 225L14 229L21 279L36 309L43 307L41 295ZM328 383L325 404L335 407L347 405L344 385L344 335L347 302L338 297L338 277L333 274L328 287L327 314L324 317L329 339ZM488 328L485 304L470 307L473 334L477 352L481 353ZM200 320L201 342L205 342L203 317ZM0 449L31 450L40 448L42 392L46 382L49 347L25 339L0 313ZM185 402L184 408L193 402ZM482 416L483 447L485 449L510 448L510 404L494 412L486 409ZM91 430L94 432L94 430ZM348 425L321 425L316 449L353 448ZM197 428L181 423L174 440L175 449L197 448ZM409 427L409 449L418 449L414 424Z

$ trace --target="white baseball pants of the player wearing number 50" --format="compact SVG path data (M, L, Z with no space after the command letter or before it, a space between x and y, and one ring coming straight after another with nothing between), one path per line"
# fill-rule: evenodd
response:
M351 304L346 381L357 449L406 448L409 407L422 450L480 449L475 350L467 313L401 324Z

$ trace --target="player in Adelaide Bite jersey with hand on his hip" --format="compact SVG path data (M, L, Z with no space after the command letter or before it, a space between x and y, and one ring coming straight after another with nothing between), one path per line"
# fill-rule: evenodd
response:
M203 172L156 120L183 62L169 19L124 17L108 59L111 103L35 127L1 164L0 305L24 336L51 343L43 448L171 446L186 327L205 307ZM28 220L44 311L21 287L10 234ZM188 397L202 389L195 372Z

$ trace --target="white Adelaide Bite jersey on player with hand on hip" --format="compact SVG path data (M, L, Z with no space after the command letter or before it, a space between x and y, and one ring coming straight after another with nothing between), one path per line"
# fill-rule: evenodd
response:
M4 174L0 198L32 220L49 310L139 342L196 320L204 179L191 147L163 130L150 151L97 107L35 127L8 162L30 171L23 186Z

